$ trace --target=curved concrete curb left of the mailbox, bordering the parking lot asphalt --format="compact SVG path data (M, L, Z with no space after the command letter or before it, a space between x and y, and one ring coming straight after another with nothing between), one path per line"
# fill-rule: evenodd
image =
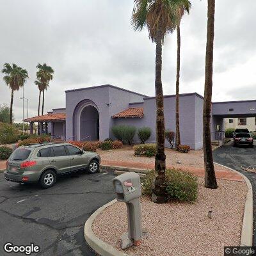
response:
M99 253L101 256L129 256L123 252L116 250L113 246L105 243L104 241L100 240L92 231L92 224L95 218L104 211L110 205L115 204L117 201L116 199L112 200L106 205L103 205L97 211L95 211L86 221L84 224L84 238L89 246L96 252Z

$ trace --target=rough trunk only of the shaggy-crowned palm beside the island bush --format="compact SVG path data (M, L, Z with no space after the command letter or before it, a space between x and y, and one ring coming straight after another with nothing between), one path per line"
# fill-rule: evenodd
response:
M167 201L165 190L165 159L164 154L164 97L162 86L162 31L157 29L156 35L156 157L155 170L157 171L156 180L152 193L152 200L156 203L164 203Z

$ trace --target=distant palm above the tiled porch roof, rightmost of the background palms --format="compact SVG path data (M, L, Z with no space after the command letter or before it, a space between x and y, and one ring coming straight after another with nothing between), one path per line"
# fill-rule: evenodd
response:
M38 81L42 82L42 92L43 92L43 101L42 101L42 115L44 115L44 91L47 90L47 87L49 87L49 81L52 80L52 75L54 73L54 70L52 67L47 66L45 63L38 64L36 66L38 68L38 71L36 72L36 77Z

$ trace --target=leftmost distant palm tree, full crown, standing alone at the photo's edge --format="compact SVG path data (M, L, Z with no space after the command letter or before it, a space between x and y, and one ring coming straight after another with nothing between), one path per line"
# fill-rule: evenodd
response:
M12 66L9 63L4 64L4 68L2 69L2 73L6 76L3 77L4 82L10 87L12 90L11 93L11 104L10 104L10 124L13 122L13 93L14 91L18 91L28 78L28 71L21 67L18 67L15 64Z

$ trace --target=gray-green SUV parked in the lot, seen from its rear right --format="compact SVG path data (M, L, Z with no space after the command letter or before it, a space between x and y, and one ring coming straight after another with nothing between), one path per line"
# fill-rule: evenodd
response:
M31 144L16 148L6 162L6 180L39 182L42 188L51 188L58 175L78 170L99 172L100 156L85 152L70 143Z

